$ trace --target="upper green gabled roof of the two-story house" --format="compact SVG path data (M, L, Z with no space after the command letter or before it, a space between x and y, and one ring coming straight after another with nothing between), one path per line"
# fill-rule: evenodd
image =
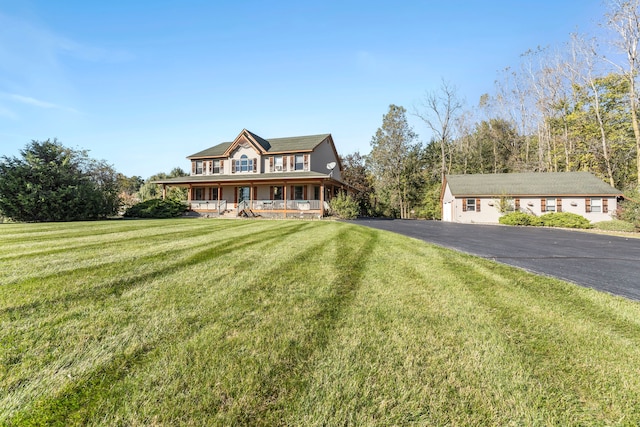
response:
M231 142L223 142L206 150L192 154L187 159L205 158L205 157L227 157L229 152L233 150L242 136L246 136L253 145L262 153L299 153L313 151L322 141L331 136L324 133L319 135L294 136L288 138L271 138L264 139L253 132L244 129L238 137Z

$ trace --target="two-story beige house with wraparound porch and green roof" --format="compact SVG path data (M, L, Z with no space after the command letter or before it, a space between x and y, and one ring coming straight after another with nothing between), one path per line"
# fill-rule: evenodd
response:
M346 189L330 134L264 139L244 129L188 156L191 175L155 181L188 188L203 215L324 216L327 201Z

